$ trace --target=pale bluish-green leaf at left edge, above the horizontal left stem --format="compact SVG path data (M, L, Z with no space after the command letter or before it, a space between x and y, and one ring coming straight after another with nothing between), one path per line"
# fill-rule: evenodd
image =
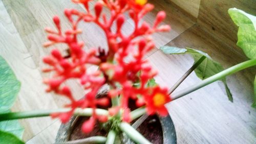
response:
M8 63L0 57L0 113L8 111L20 89L20 82L17 81Z

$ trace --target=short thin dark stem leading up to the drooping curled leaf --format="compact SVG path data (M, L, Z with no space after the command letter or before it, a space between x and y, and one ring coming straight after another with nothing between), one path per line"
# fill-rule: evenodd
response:
M204 61L206 57L202 56L197 62L195 62L186 73L169 89L168 93L171 94L174 90Z

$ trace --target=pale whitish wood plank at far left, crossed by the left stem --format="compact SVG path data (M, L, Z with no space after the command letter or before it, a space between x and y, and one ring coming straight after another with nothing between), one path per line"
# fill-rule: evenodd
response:
M0 1L0 55L6 59L17 79L22 83L18 99L12 110L57 108L50 94L44 91L40 70L19 36L4 4ZM38 95L44 95L39 97ZM46 99L47 98L47 99ZM25 128L24 140L27 140L51 124L50 118L27 119L21 121ZM44 123L42 123L44 122Z

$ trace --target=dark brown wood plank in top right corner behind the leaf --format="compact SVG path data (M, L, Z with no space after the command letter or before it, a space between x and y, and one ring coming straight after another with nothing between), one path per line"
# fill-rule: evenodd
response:
M228 9L234 7L256 15L256 1L254 0L201 0L198 16L198 24L213 36L230 45L231 51L239 49L236 46L238 27L234 25L228 14Z

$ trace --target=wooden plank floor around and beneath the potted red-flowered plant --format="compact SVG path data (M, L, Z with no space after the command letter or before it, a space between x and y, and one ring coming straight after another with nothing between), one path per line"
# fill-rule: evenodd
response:
M157 82L171 87L193 64L190 56L169 56L159 51L161 45L193 47L203 50L219 61L225 68L245 61L246 57L237 47L230 47L225 41L214 38L197 24L193 18L182 13L167 1L152 1L156 9L145 17L152 23L157 11L166 10L165 23L172 26L172 31L154 35L156 49L147 57L159 71ZM46 40L45 27L53 27L51 18L59 15L63 21L65 8L83 10L69 0L0 0L0 55L11 65L22 88L13 111L51 109L63 106L63 99L52 93L45 93L46 86L42 79L49 75L42 74L42 57L50 50L41 44ZM124 32L129 33L133 23L127 20ZM62 22L63 28L69 25ZM86 49L91 46L105 45L102 33L96 26L80 26L84 33L81 39L86 41ZM95 70L95 67L91 67ZM190 93L177 101L167 104L177 131L178 143L255 143L256 110L250 107L253 97L253 78L256 68L243 70L227 77L233 93L234 103L227 100L225 88L221 82L215 82L203 89ZM199 82L195 73L191 74L177 91ZM82 89L77 82L70 82L77 98ZM60 122L58 119L31 118L21 120L27 143L53 143Z

